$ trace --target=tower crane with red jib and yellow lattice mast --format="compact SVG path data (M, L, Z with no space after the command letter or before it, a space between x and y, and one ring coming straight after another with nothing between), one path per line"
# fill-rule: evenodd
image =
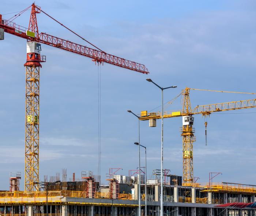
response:
M31 13L28 28L13 22L16 17L19 17L30 8ZM25 191L38 191L38 184L35 182L39 181L39 69L42 67L41 62L46 62L46 57L41 55L41 43L88 57L92 59L95 64L103 64L105 62L142 74L149 73L143 64L108 54L81 36L79 37L94 46L95 49L46 33L39 33L37 14L41 12L79 36L52 16L48 15L41 7L34 3L23 11L20 11L11 19L2 19L2 15L0 15L0 40L4 39L4 32L27 39L27 60L24 64L26 67Z

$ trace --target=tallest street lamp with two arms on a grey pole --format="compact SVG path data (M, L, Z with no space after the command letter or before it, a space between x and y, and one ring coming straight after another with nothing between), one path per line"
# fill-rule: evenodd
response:
M146 79L148 82L152 82L155 86L157 86L159 89L161 89L162 92L162 133L161 133L161 197L160 197L160 215L163 216L163 90L170 89L170 88L176 88L177 86L170 86L166 88L162 88L157 85L157 83L154 83L152 79Z

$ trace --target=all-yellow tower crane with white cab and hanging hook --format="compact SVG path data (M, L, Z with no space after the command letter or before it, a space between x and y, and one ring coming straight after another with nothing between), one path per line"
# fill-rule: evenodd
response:
M244 101L233 101L225 103L214 103L209 105L197 105L191 109L189 90L200 90L200 91L215 91L215 90L204 90L204 89L191 89L186 87L181 91L182 95L182 109L180 111L165 111L163 118L182 117L182 127L180 128L182 137L182 178L184 186L193 185L193 142L196 141L194 135L195 128L193 128L194 117L193 115L202 114L207 117L211 113L238 110L256 107L256 99L244 100ZM232 91L215 91L215 92L226 92L226 93L240 93L240 94L256 94L256 93L243 93L243 92L232 92ZM142 121L149 120L149 126L156 126L156 119L162 117L161 112L148 113L147 111L140 112L139 119ZM205 124L207 126L207 122Z

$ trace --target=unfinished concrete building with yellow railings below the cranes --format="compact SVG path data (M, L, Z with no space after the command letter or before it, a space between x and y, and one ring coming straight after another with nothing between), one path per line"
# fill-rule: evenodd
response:
M147 180L147 216L160 211L159 173ZM135 174L135 176L138 174ZM48 185L49 216L137 216L138 181L120 183L111 175L108 185L99 185L91 172L82 172L79 181L52 182L52 177L39 191L18 191L18 182L10 177L10 191L0 192L1 216L46 216ZM20 177L20 176L18 176ZM122 176L121 176L122 177ZM131 176L129 176L131 178ZM163 187L163 214L168 216L255 216L256 185L222 182L182 186L181 176L166 174ZM120 179L120 178L119 178ZM138 179L138 178L137 178ZM18 181L16 178L15 181ZM143 180L143 177L141 178ZM145 210L145 183L141 184L141 215ZM15 188L12 185L16 185ZM43 190L44 189L44 190ZM112 203L113 202L113 203ZM112 206L113 205L113 206ZM112 212L113 207L113 212Z

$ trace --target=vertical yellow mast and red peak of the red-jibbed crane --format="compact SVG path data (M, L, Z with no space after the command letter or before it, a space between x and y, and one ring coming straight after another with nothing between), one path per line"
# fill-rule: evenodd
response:
M32 4L29 30L38 35L37 17L39 13ZM41 44L27 41L26 67L26 110L25 110L25 191L38 191L39 182L39 75Z

